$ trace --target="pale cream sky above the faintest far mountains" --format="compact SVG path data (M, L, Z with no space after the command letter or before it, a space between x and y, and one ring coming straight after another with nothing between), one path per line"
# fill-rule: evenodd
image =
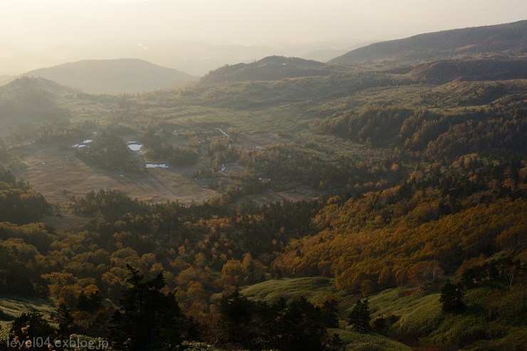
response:
M521 19L525 0L0 0L0 44L192 38L254 45L398 38Z

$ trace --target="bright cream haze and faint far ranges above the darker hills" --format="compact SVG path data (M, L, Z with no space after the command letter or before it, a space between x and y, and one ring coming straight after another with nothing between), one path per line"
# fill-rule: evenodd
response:
M373 41L523 19L511 1L2 0L0 75L141 58L192 75L283 55L328 61Z

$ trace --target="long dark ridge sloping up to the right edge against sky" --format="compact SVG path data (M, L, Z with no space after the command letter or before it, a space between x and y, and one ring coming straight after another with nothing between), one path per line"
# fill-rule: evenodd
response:
M423 62L491 53L499 53L502 57L508 54L526 54L527 21L425 33L405 39L373 43L345 53L330 62Z

